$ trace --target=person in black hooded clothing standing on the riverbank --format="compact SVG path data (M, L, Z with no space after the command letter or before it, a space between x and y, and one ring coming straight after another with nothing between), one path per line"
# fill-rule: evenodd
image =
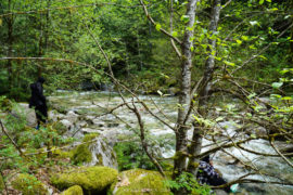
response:
M35 108L36 117L37 117L37 127L39 129L40 123L46 123L46 119L48 117L48 108L46 103L46 96L43 95L42 83L44 79L39 77L38 80L30 84L31 96L29 99L29 108Z

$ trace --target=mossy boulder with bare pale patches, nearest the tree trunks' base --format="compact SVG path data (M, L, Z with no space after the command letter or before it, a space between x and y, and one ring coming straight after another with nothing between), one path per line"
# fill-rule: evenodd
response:
M113 183L109 195L169 195L164 178L156 171L132 169L119 173L119 181Z

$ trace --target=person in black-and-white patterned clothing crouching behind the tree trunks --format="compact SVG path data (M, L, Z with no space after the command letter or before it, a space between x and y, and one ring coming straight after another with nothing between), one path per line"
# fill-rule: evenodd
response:
M212 165L209 156L204 157L200 161L199 172L196 176L200 184L207 184L212 186L224 185L227 182L217 173ZM230 186L224 188L227 193L230 192Z

